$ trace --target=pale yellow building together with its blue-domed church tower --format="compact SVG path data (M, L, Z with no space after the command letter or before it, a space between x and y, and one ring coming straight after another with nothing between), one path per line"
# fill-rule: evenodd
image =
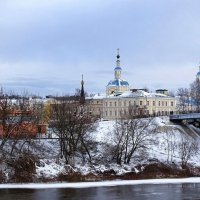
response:
M168 95L168 90L158 89L149 93L146 89L131 89L122 79L119 51L117 54L114 80L109 81L106 94L87 98L91 113L105 120L121 118L128 114L130 107L137 108L138 115L169 115L176 111L176 99Z

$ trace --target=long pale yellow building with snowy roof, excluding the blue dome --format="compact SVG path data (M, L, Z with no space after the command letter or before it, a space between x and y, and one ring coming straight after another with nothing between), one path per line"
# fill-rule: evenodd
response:
M127 116L131 107L137 108L137 115L170 115L176 111L176 100L159 93L142 90L110 95L103 99L103 119L117 119Z

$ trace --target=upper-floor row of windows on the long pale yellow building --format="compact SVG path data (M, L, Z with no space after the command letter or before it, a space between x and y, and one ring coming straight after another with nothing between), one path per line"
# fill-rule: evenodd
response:
M109 104L108 104L109 103ZM169 103L170 103L170 106L174 106L174 102L173 101L171 101L171 102L167 102L167 101L158 101L157 102L158 104L158 106L162 106L162 107L164 107L164 106L169 106ZM117 106L117 102L115 101L115 102L105 102L105 106L107 107L107 106L110 106L110 107L112 107L112 106L114 106L114 107L116 107ZM130 106L130 105L137 105L136 104L136 101L134 101L133 102L133 104L131 104L131 101L129 101L129 102L126 102L126 101L124 101L123 102L123 106ZM140 106L150 106L150 102L149 101L139 101L139 105ZM122 102L121 101L119 101L119 106L122 106ZM155 101L153 101L152 102L152 106L156 106L156 102Z

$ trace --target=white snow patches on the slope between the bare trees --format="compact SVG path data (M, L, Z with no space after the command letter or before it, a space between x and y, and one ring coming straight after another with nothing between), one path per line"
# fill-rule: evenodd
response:
M97 151L93 153L94 158L98 162L83 164L81 159L77 159L76 167L72 169L73 171L87 175L90 173L96 174L97 172L104 173L105 171L114 170L117 175L122 175L133 171L137 173L139 172L138 168L136 168L137 165L148 164L154 161L164 163L173 162L176 165L180 165L181 159L178 154L176 142L180 141L181 136L187 133L183 127L171 124L168 117L154 118L154 124L158 126L158 131L149 135L149 139L152 139L152 141L148 143L142 156L141 152L136 152L134 159L128 165L117 165L113 162L104 161L102 155L105 154L103 152L105 149L103 145L113 144L115 124L115 121L97 122L97 128L95 132L91 133L91 137L98 144ZM198 141L199 138L196 137L196 140ZM170 146L172 144L173 146ZM37 177L54 178L59 174L64 174L70 168L69 166L66 167L64 159L61 159L59 156L59 144L57 140L38 140L33 145L33 151L36 155L40 154L39 156L41 158L36 166ZM199 155L192 156L189 163L193 166L200 166ZM1 169L8 174L6 166L1 166Z

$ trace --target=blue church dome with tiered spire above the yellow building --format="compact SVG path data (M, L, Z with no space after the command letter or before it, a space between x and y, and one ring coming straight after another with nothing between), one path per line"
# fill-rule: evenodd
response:
M122 68L120 67L119 58L120 58L120 55L119 55L119 49L118 49L116 67L114 69L115 79L109 81L106 87L107 95L129 91L129 83L126 80L121 79Z

